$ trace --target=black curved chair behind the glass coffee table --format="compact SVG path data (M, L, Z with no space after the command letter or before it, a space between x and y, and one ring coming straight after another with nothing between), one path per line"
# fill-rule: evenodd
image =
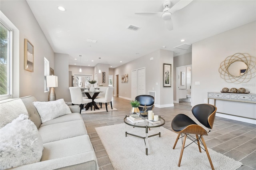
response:
M140 102L140 105L139 105L140 113L146 113L154 109L155 99L153 96L139 95L135 97L135 100Z

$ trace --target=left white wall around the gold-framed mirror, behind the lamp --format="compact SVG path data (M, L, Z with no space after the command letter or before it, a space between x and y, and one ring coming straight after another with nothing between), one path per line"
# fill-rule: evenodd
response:
M50 67L54 69L54 52L50 44L46 40L46 37L25 0L1 0L0 10L20 32L19 58L16 58L20 61L20 90L19 95L15 95L15 97L34 95L38 101L47 101L48 93L44 93L44 57L50 62ZM25 38L34 45L34 72L24 70Z

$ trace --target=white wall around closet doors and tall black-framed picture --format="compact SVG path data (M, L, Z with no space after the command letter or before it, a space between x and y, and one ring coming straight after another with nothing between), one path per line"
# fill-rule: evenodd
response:
M153 60L150 58L153 57ZM131 99L131 71L142 67L146 68L146 94L148 91L156 91L156 107L173 106L173 87L163 87L163 63L172 64L173 51L158 49L136 60L130 61L115 68L114 75L119 75L119 97ZM121 75L128 73L128 83L121 83ZM115 78L115 77L114 77ZM171 74L173 85L173 76Z

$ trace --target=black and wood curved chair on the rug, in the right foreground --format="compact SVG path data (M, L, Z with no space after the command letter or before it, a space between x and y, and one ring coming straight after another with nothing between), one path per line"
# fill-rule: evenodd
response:
M206 146L206 143L204 141L203 136L208 135L208 133L212 129L216 110L217 110L217 108L214 105L205 104L205 103L195 105L192 108L192 113L193 113L194 117L196 117L196 119L202 125L204 125L206 128L208 128L207 131L202 126L197 125L187 115L178 114L174 117L174 119L172 120L171 126L172 126L172 130L174 130L174 132L178 133L178 136L177 136L176 141L174 143L173 149L175 148L179 138L184 137L184 139L182 140L182 148L181 148L181 151L180 151L180 159L179 159L178 166L180 166L180 162L181 162L181 159L182 159L182 154L183 154L184 148L194 142L194 143L198 144L199 152L201 152L201 148L202 148L200 146L200 142L201 142L204 145L204 148L202 148L202 149L206 151L206 154L207 154L207 157L209 159L210 165L211 165L212 169L214 170L212 160L210 158L210 155L209 155L209 152L207 150L207 146ZM180 134L181 134L181 137L180 137ZM190 134L195 134L196 138L192 137ZM200 137L198 137L198 135L200 135ZM188 137L192 140L192 142L190 144L188 144L187 146L185 146L186 137Z

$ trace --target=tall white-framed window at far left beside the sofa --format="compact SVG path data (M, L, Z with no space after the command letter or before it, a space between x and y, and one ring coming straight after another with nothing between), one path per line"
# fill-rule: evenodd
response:
M12 30L0 22L0 96L12 94Z

